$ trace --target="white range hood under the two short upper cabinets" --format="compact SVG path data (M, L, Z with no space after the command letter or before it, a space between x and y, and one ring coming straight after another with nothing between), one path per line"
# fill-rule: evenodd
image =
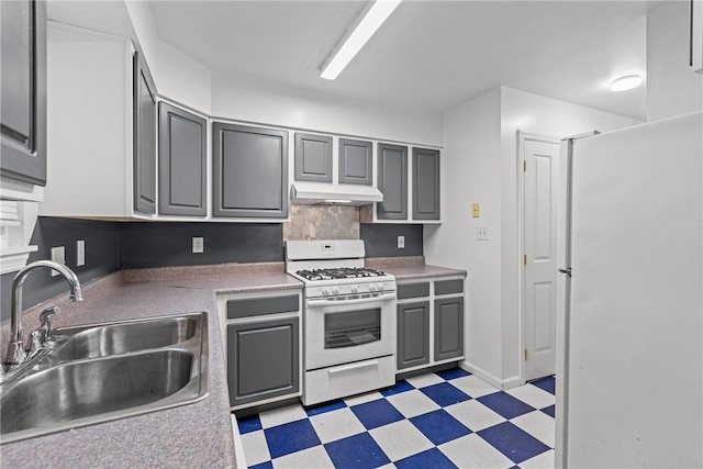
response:
M294 182L290 201L298 205L368 205L382 202L383 194L372 186Z

